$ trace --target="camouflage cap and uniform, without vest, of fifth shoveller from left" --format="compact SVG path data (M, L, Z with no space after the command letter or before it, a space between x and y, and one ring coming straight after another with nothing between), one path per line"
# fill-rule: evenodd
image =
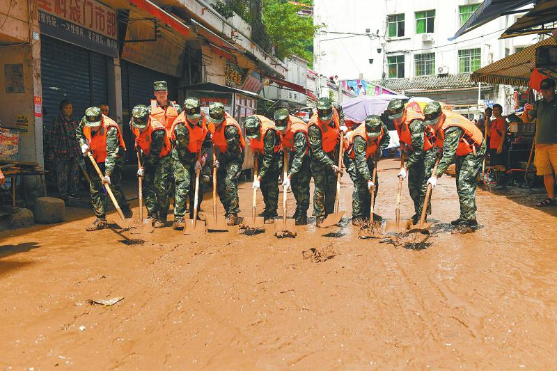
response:
M261 123L256 116L246 118L246 136L248 139L257 139L261 136ZM269 129L263 137L263 153L256 152L258 159L258 177L260 177L261 194L265 203L262 216L273 219L278 216L278 177L281 176L283 167L283 152L275 152L277 145L281 144L281 137L274 129Z

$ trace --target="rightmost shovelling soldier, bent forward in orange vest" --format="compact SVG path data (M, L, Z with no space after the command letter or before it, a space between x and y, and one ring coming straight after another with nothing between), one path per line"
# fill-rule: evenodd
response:
M460 201L460 217L451 223L453 233L471 232L478 226L476 221L476 185L478 173L485 156L483 133L464 116L441 109L439 102L428 103L423 109L424 124L434 131L436 143L442 148L437 171L427 180L432 188L455 161L457 194Z

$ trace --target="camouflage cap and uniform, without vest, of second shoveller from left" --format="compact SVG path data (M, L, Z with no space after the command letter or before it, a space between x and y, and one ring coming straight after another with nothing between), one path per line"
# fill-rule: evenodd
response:
M146 125L151 124L151 121L147 106L140 104L134 107L132 110L133 127L146 127ZM143 153L141 156L144 172L143 196L145 198L145 207L147 208L148 218L156 219L159 222L159 225L155 224L155 227L164 226L168 214L168 192L172 171L172 157L171 155L159 157L164 149L165 136L166 130L153 130L150 137L149 155Z

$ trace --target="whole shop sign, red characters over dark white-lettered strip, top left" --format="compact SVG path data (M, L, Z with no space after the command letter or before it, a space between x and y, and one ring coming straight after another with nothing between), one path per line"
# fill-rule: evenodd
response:
M95 0L38 0L40 31L109 56L118 56L116 12Z

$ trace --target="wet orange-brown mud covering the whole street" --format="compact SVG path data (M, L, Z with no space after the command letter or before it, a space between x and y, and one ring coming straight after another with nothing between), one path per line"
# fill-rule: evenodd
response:
M396 167L380 162L384 217L394 216ZM242 184L246 216L250 196ZM406 187L402 196L411 216ZM93 218L83 210L71 223L2 232L0 368L554 368L554 212L532 207L536 196L480 191L483 228L450 235L454 179L441 178L433 198L438 223L422 249L358 239L346 222L295 239L166 228L127 245L111 230L84 232ZM310 248L334 256L304 258ZM88 303L113 297L124 299Z

